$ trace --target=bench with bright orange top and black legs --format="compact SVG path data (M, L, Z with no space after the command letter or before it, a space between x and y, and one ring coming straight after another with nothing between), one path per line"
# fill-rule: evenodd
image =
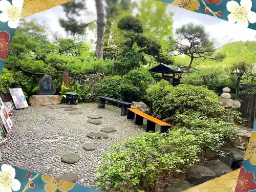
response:
M136 117L135 117L136 114ZM163 122L159 119L156 119L150 115L147 115L140 110L137 109L127 109L127 119L134 119L135 117L135 124L143 125L143 118L147 119L146 123L146 132L155 132L156 124L159 124L161 126L161 133L166 133L172 126L171 124L168 124L166 122Z

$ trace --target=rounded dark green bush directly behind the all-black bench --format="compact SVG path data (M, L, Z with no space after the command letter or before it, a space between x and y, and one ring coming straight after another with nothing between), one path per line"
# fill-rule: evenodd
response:
M122 76L109 76L98 82L93 93L97 96L106 96L124 101L137 100L140 90L134 87L133 82Z

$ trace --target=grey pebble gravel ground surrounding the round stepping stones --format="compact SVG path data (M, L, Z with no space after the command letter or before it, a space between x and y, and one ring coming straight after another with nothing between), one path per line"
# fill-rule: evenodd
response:
M77 184L95 187L94 179L101 156L110 151L111 145L122 142L128 137L140 135L141 126L134 121L120 116L120 109L106 105L106 109L98 109L97 103L78 104L83 114L70 115L74 111L51 109L49 106L30 106L17 111L11 116L13 128L8 140L0 144L0 157L3 163L54 178L67 172L76 173ZM87 116L102 115L100 125L87 122ZM90 139L88 133L100 132L102 127L113 126L115 133L106 134L108 139ZM83 144L96 142L96 151L86 151ZM67 153L77 153L80 159L75 164L60 161ZM1 162L1 159L0 159Z

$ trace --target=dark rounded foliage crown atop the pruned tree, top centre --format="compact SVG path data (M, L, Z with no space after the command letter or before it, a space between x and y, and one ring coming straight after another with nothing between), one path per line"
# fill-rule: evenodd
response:
M143 33L143 27L140 19L134 16L125 16L118 22L118 28L122 30L134 31L136 33Z

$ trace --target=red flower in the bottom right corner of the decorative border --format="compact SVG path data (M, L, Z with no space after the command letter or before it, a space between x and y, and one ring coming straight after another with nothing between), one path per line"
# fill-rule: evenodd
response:
M245 192L256 189L256 182L254 182L254 179L255 177L253 173L246 173L245 168L241 167L235 192Z

